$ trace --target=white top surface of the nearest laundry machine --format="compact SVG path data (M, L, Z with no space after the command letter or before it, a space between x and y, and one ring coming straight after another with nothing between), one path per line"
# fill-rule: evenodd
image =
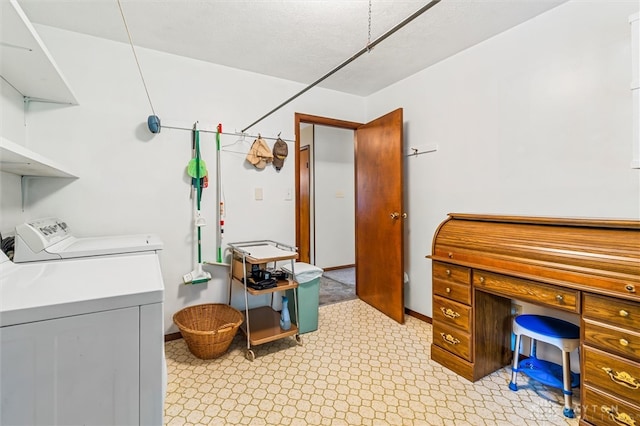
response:
M0 263L0 327L162 302L155 252Z

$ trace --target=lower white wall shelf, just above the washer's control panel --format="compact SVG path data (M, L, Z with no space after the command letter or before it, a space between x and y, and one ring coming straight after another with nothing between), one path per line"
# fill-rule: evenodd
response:
M2 137L0 137L0 171L29 177L78 177L55 161Z

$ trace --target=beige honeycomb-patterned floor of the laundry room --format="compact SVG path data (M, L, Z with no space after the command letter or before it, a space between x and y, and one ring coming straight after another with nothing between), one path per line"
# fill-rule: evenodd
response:
M320 307L318 331L200 360L165 345L166 425L577 425L562 395L501 369L476 383L429 359L431 325L397 324L356 299ZM579 399L574 397L576 413Z

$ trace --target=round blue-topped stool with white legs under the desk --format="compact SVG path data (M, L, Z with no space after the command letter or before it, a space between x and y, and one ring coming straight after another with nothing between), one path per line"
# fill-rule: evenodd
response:
M538 382L562 389L564 394L565 417L574 418L572 406L572 388L580 385L580 375L571 372L569 354L580 347L580 327L561 319L543 315L518 315L513 320L513 333L516 345L513 350L513 367L509 389L518 390L516 379L518 371L525 373ZM531 338L531 354L529 358L518 362L522 336ZM536 341L553 345L562 350L562 365L536 358Z

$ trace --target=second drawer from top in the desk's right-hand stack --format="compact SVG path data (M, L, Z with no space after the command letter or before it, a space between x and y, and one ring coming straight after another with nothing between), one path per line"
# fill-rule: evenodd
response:
M615 353L631 360L640 360L640 333L595 322L582 320L584 344Z

